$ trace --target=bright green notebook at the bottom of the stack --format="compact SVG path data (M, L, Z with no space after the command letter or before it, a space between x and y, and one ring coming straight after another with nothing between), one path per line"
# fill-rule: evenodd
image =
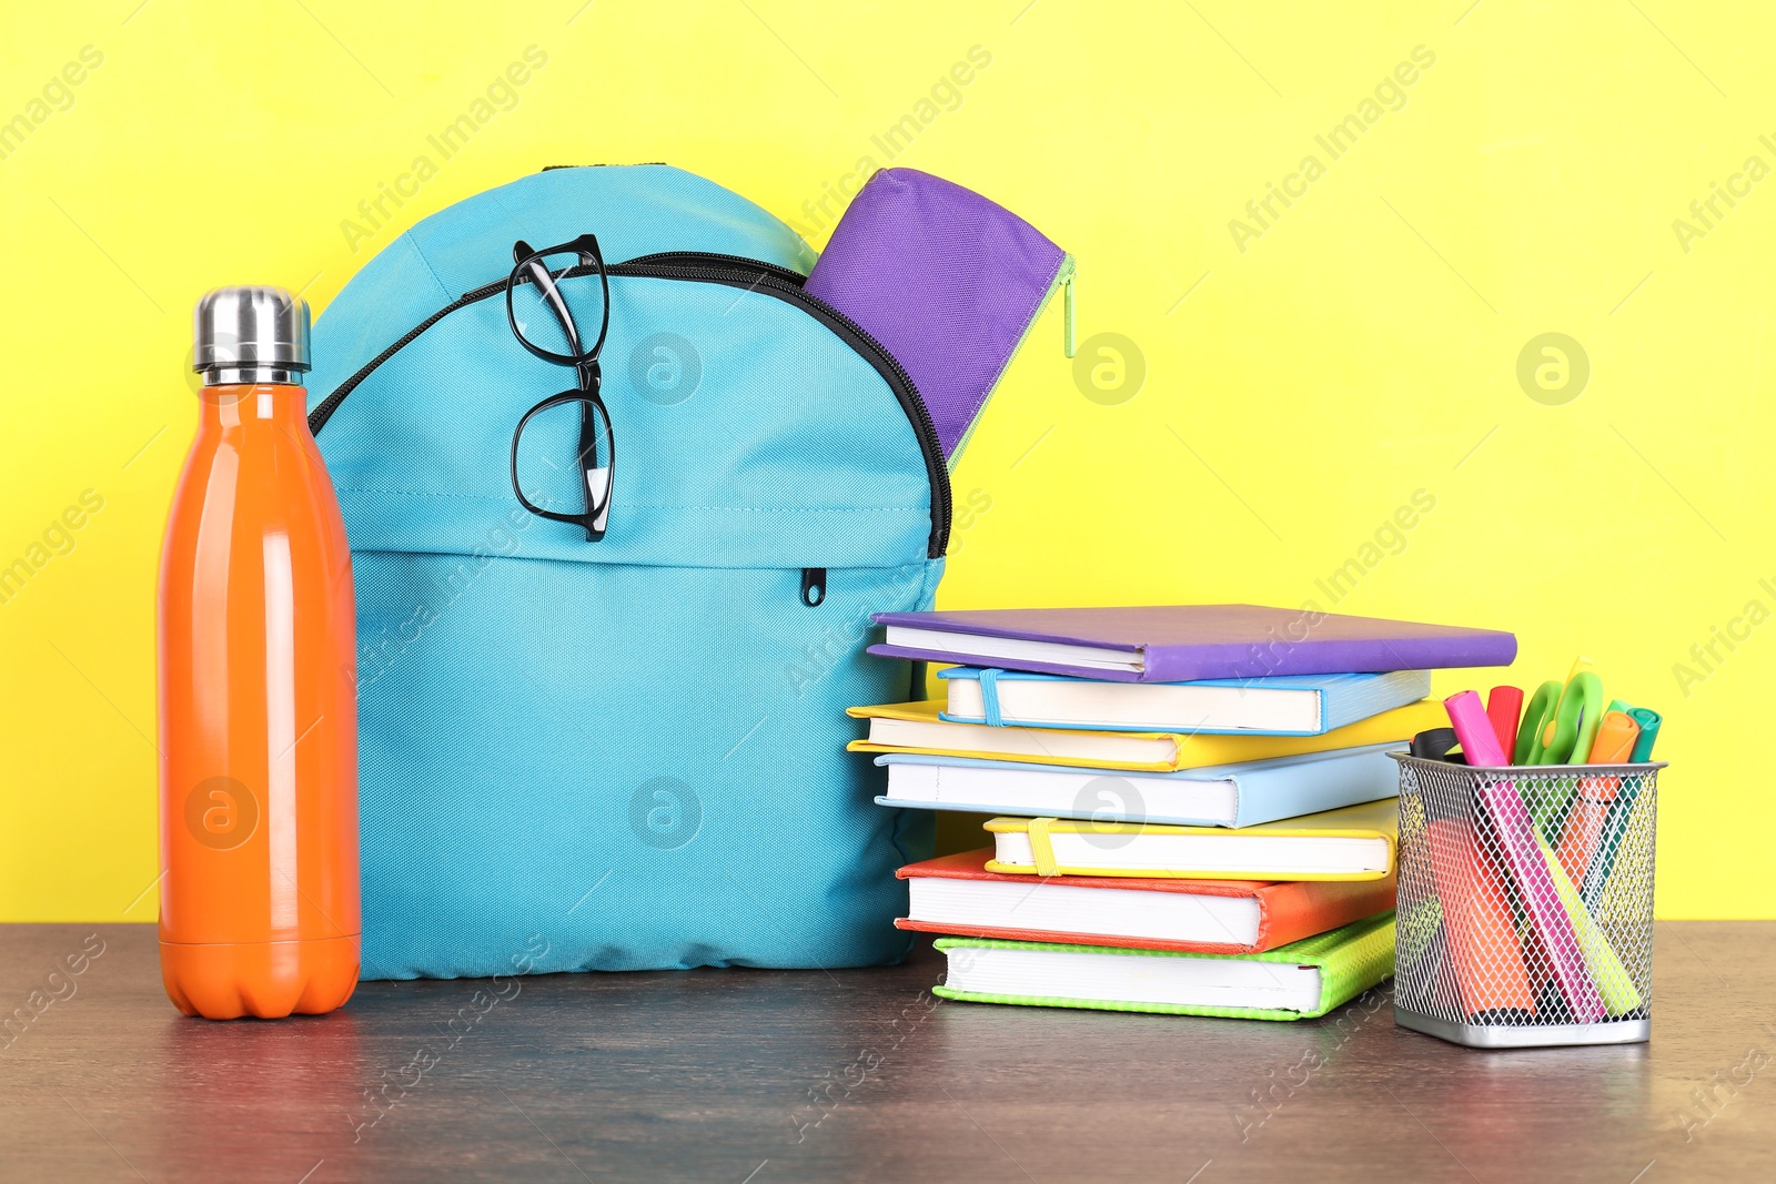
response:
M1312 1019L1394 973L1394 914L1265 953L1176 953L940 937L950 959L932 994L970 1003L1101 1012Z

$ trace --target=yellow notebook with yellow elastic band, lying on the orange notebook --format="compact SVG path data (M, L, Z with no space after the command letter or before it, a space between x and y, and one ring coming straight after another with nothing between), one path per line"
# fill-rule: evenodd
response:
M1256 827L993 818L987 872L1179 880L1378 880L1394 870L1399 799Z

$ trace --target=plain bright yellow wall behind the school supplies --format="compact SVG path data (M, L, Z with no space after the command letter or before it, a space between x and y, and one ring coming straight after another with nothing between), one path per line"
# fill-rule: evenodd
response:
M664 160L819 245L805 202L890 163L872 137L971 46L991 64L892 163L1073 250L1080 337L1135 343L1146 378L1085 398L1044 316L955 472L940 602L1314 600L1511 628L1524 685L1584 651L1666 715L1661 916L1776 916L1776 627L1701 682L1673 673L1749 600L1776 607L1776 181L1689 250L1673 231L1748 156L1776 163L1772 18L1469 4L9 11L0 119L83 46L103 64L0 160L0 564L83 490L103 509L0 604L0 918L156 911L153 586L206 288L284 284L320 311L424 213L549 163ZM353 252L341 222L533 44L549 60L517 105ZM1405 107L1330 160L1314 137L1415 46L1435 64ZM1309 153L1325 176L1241 252L1229 220ZM1517 380L1545 332L1590 359L1563 405ZM1417 490L1435 509L1362 563ZM1316 580L1352 557L1334 605Z

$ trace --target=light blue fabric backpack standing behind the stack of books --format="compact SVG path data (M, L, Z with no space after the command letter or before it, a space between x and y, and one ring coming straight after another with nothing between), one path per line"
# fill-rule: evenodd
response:
M931 815L872 802L845 708L915 694L868 614L931 607L950 488L911 380L803 295L812 263L677 169L552 169L423 220L320 318L364 978L906 951L893 870ZM545 344L559 305L577 348ZM584 353L600 307L597 382L520 343Z

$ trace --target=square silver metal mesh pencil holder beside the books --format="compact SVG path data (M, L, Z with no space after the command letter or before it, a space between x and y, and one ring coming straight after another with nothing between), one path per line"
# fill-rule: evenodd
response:
M1646 1040L1664 763L1394 760L1394 1022L1490 1049Z

